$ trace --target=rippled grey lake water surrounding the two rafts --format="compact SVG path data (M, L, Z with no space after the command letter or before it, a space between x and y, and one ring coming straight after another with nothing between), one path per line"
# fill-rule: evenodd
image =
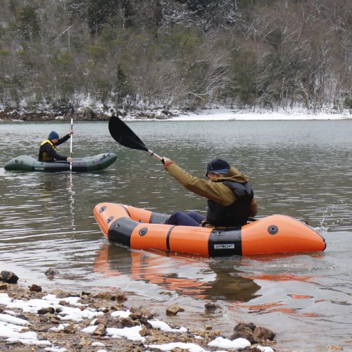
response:
M141 303L186 308L175 318L230 332L239 320L270 327L277 347L352 350L352 121L128 122L153 151L202 176L225 158L251 177L260 213L294 216L317 228L324 253L253 258L197 258L131 251L108 244L92 209L111 201L204 212L205 201L180 187L155 159L116 144L106 122L76 123L74 156L106 151L118 161L96 173L6 172L18 155L37 157L63 123L0 124L0 265L22 283L46 287L118 287ZM68 155L70 144L58 147ZM60 270L52 281L49 267ZM209 315L208 301L222 310ZM158 310L158 308L155 308ZM154 310L155 311L155 310ZM194 317L197 318L194 318ZM170 321L171 318L167 318ZM319 339L317 339L319 337Z

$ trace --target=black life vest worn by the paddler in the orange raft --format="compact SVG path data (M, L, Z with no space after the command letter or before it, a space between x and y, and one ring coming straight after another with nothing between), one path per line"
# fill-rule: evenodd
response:
M215 227L238 227L246 224L254 193L249 182L224 182L236 196L236 201L230 206L222 206L215 201L208 200L208 214L206 219Z

